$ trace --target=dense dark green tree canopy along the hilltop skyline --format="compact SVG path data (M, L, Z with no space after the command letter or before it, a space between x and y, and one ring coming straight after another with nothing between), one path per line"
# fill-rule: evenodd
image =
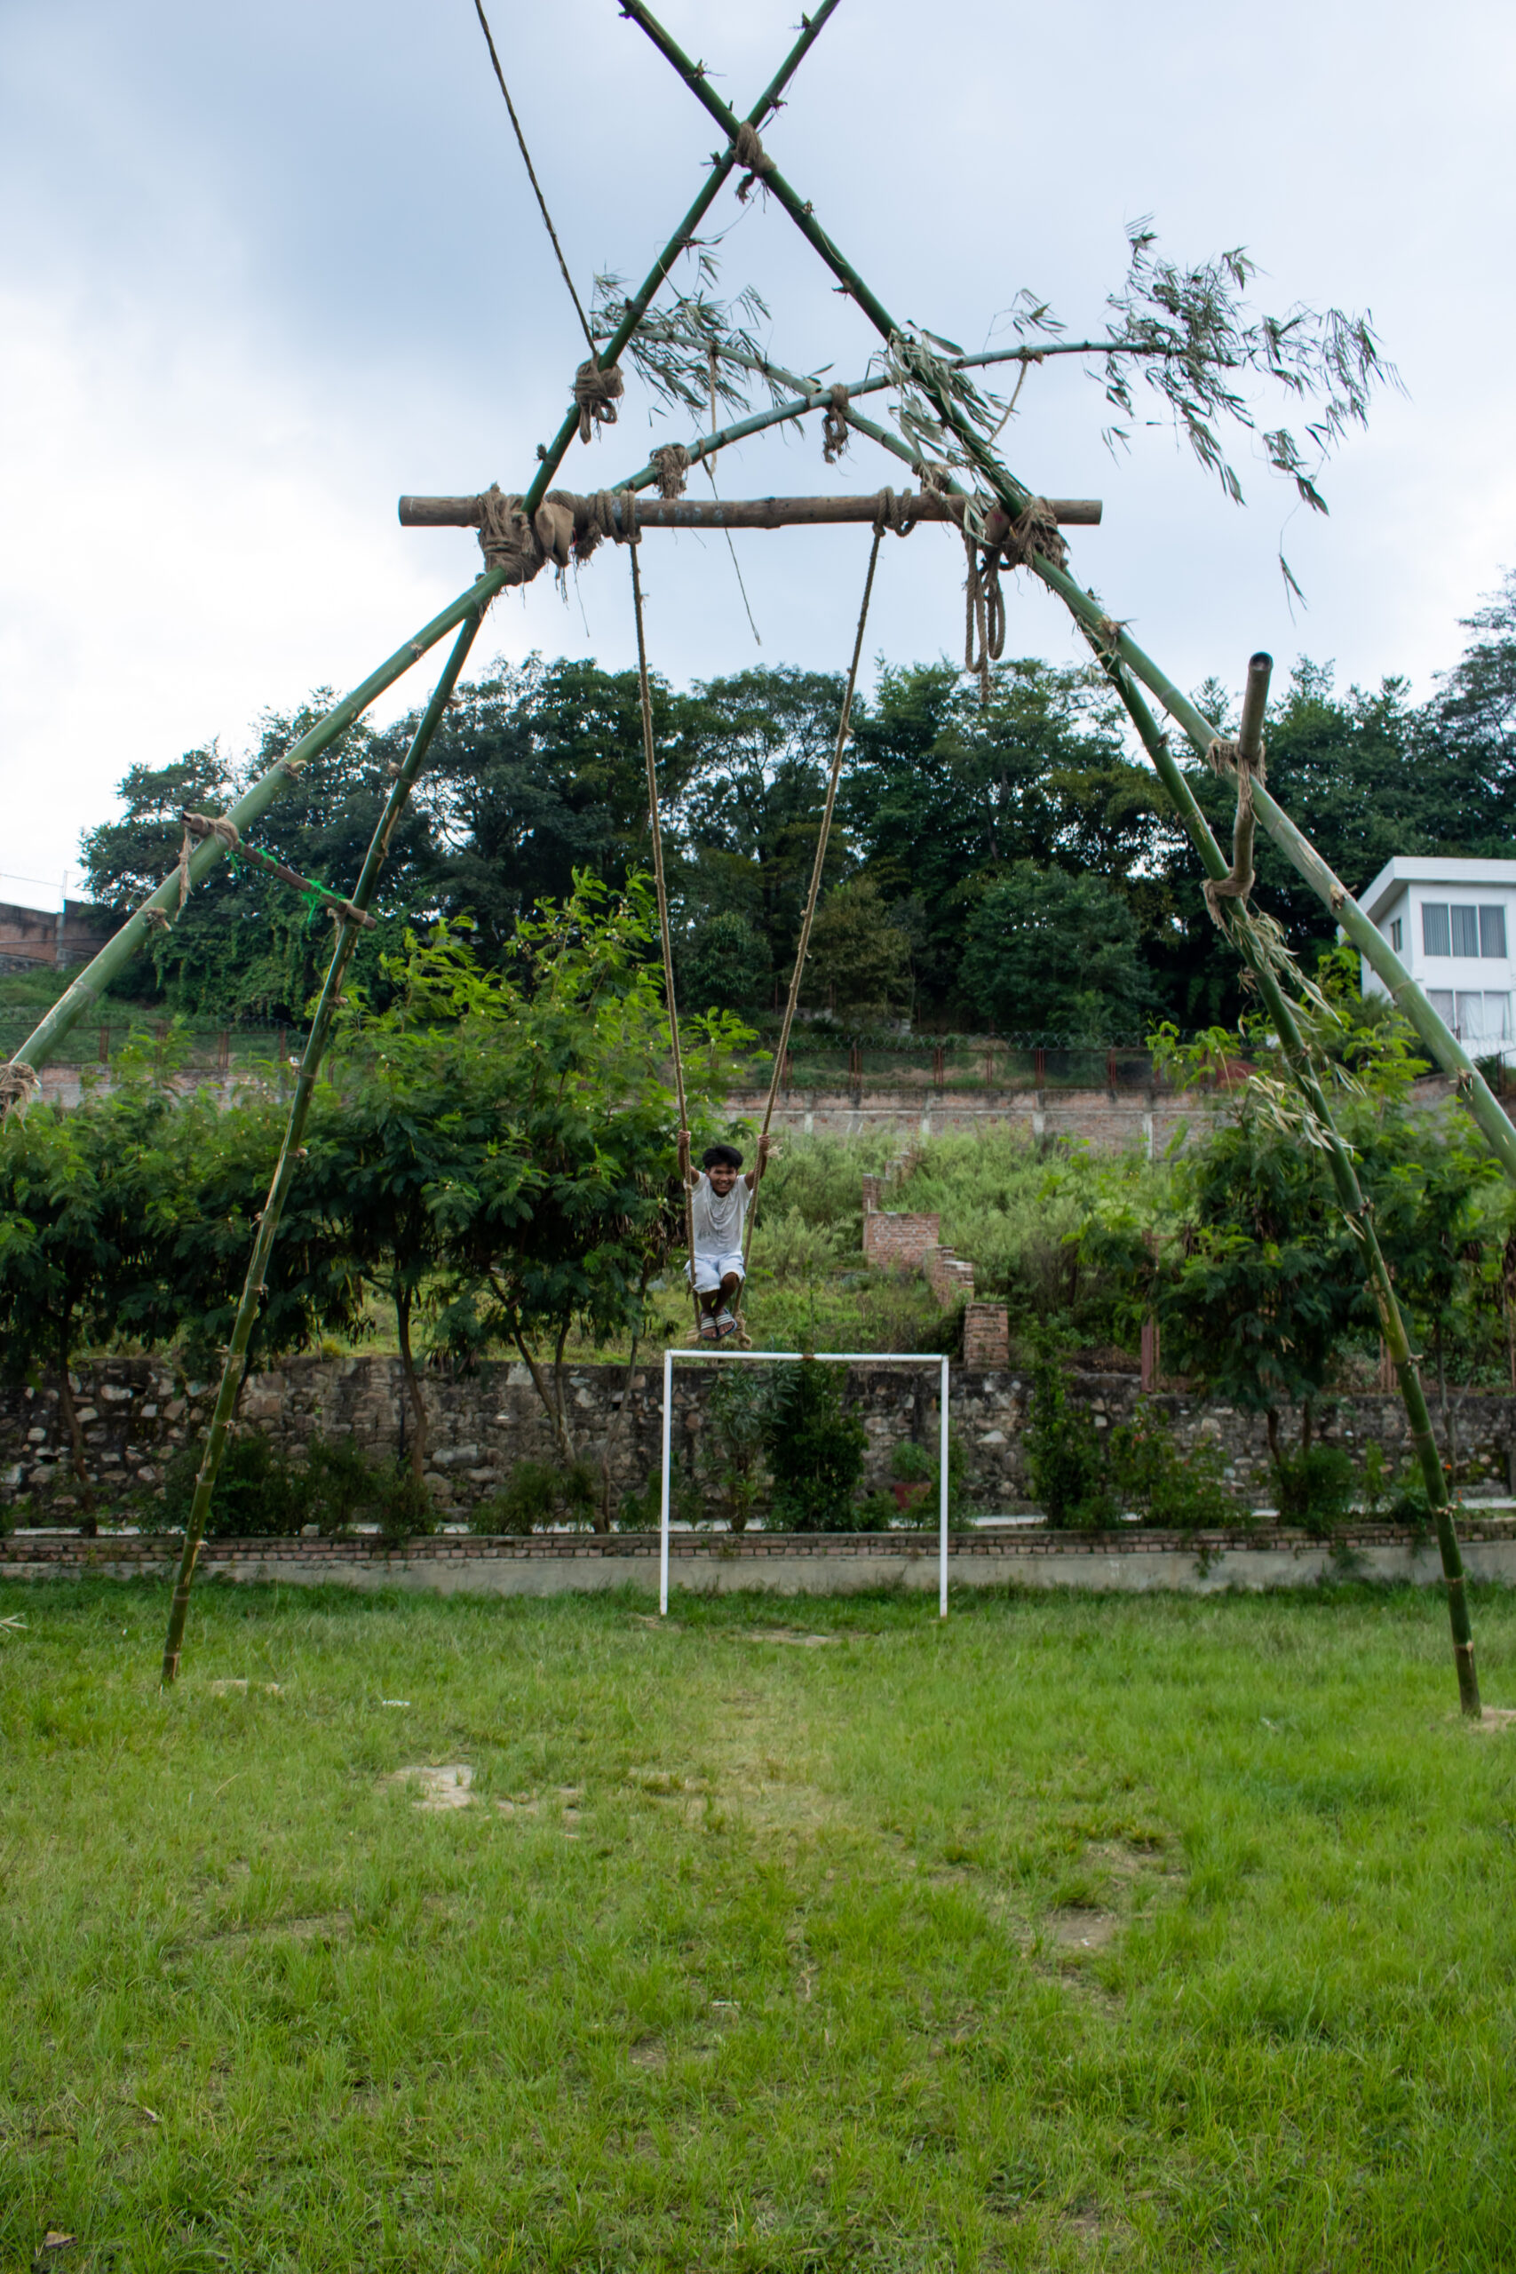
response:
M1341 694L1332 666L1309 659L1282 680L1266 730L1271 789L1355 889L1393 853L1516 850L1514 578L1466 619L1466 632L1464 657L1423 705L1398 678ZM836 675L793 666L684 691L652 680L675 946L698 1007L761 1007L793 964L841 696ZM180 807L223 810L323 700L268 714L243 762L211 746L132 769L120 814L84 835L93 896L141 898L177 860ZM1216 682L1200 700L1225 719ZM384 732L355 728L270 810L257 841L300 875L345 889L411 728L414 719ZM1227 787L1198 764L1191 782L1227 839ZM480 951L498 962L543 901L570 894L575 873L618 889L648 850L634 673L591 659L495 664L459 689L436 735L355 976L382 989L405 923L432 916L470 916ZM996 889L1021 864L1086 880L1121 903L1114 921L1143 985L1107 976L1084 989L1109 1001L1111 1016L1116 1005L1136 1016L1139 1003L1184 1028L1239 1014L1236 960L1207 919L1196 855L1134 757L1109 684L1093 666L1034 657L998 664L989 703L948 662L884 666L873 696L855 703L825 887L832 896L866 878L868 894L827 898L823 914L834 910L825 921L841 923L850 907L875 910L891 928L875 944L891 955L905 944L900 985L839 987L818 944L805 1007L823 1007L827 994L855 1014L909 1001L918 1021L982 1023L996 994L986 910L1011 905ZM1309 957L1332 937L1330 916L1261 830L1257 869L1259 907ZM225 864L173 932L155 937L152 982L170 1007L200 1016L298 1021L327 939L325 919L298 894L250 864ZM1016 953L1007 941L1011 964ZM1043 991L1064 1001L1061 982Z

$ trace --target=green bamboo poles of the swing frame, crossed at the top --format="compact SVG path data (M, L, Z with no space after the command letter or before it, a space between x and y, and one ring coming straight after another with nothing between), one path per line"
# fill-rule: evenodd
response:
M739 143L741 141L750 143L750 136L757 134L768 114L777 107L784 86L802 64L816 36L823 32L836 5L839 0L821 0L816 14L802 18L800 39L796 41L789 57L780 66L777 75L771 80L771 84L764 89L764 93L759 96L759 100L752 105L752 109L743 121L711 89L702 68L682 52L682 48L668 36L668 32L664 32L664 27L657 23L650 9L643 7L643 0L623 0L623 14L630 16L648 34L648 39L659 48L666 61L684 80L684 84L705 105L711 118L720 125L727 139L727 148L716 152L716 157L711 159L711 171L700 189L700 196L693 200L689 214L684 216L673 239L659 255L659 262L648 273L639 293L634 293L627 300L623 318L600 355L600 368L618 364L630 339L643 323L648 307L652 305L652 298L668 277L673 264L680 259L684 250L689 250L693 234L700 227L705 214L709 211L723 182L727 180L727 175L736 164L745 164L745 157L739 159ZM750 134L745 136L743 130L750 130ZM902 327L891 318L889 309L877 300L877 296L871 291L864 277L834 246L834 241L816 221L811 207L802 202L798 191L768 159L764 161L761 168L761 184L784 207L784 211L791 216L802 236L811 243L811 248L834 273L841 289L868 316L880 337L886 343L905 339L907 334L902 332ZM1023 350L1009 350L1005 359L1009 362L1016 359L1018 355L1023 355ZM768 368L773 368L784 384L793 384L796 396L800 400L780 405L766 414L757 414L745 421L736 421L727 430L718 430L716 434L705 439L698 453L691 450L691 457L707 455L723 441L736 441L741 439L741 434L755 434L761 428L775 425L782 418L798 416L800 409L818 409L832 400L830 389L814 387L811 382L805 380L793 380L791 373L780 373L777 366ZM964 418L952 398L941 387L934 384L930 373L918 373L918 384L923 387L923 393L932 400L941 425L952 430L952 434L961 443L975 475L998 498L1009 518L1021 518L1021 514L1032 503L1032 491L1023 482L1018 482L1014 473L1009 473L1009 468L996 457L996 453ZM886 437L882 428L875 428L873 421L864 421L861 414L852 409L846 409L843 416L848 416L848 423L855 425L859 432L868 432L871 439L884 441L886 448L896 450L902 457L909 457L909 453L900 443L896 443L893 437ZM552 482L552 475L557 473L577 428L580 428L580 409L575 405L564 418L564 425L559 428L555 441L541 455L536 475L532 478L532 484L523 496L523 514L527 523L536 512L536 507L543 503L548 484ZM648 487L652 478L655 478L652 468L645 466L630 487ZM1225 878L1227 875L1225 855L1221 853L1209 830L1209 823L1205 821L1205 814L1200 812L1196 796L1166 744L1164 732L1159 730L1152 712L1148 709L1141 689L1148 689L1159 698L1164 709L1182 725L1182 730L1186 732L1198 753L1209 750L1209 746L1216 741L1211 723L1168 680L1168 675L1159 669L1159 664L1150 655L1146 655L1143 648L1139 648L1139 644L1130 637L1125 625L1114 621L1105 612L1100 600L1096 600L1093 594L1084 591L1061 566L1057 566L1041 553L1034 553L1027 566L1032 566L1034 573L1041 575L1041 580L1052 591L1059 594L1071 614L1084 628L1096 655L1100 657L1116 691L1121 694L1127 714L1132 716L1132 723L1159 778L1164 780L1164 787L1168 789L1180 814L1184 816L1191 841L1196 844L1196 850L1200 855L1207 875L1211 880ZM305 1114L309 1110L309 1094L316 1080L316 1069L320 1064L325 1039L330 1035L336 998L341 994L341 976L345 971L348 957L352 955L352 944L359 928L355 919L359 919L368 910L368 903L377 887L380 866L384 862L389 841L393 837L393 828L400 819L400 812L405 810L409 789L420 771L420 764L425 762L427 746L432 741L439 719L443 716L448 694L452 691L452 684L464 666L468 648L484 619L484 609L507 582L509 573L500 568L477 578L466 594L452 600L450 607L445 607L439 616L432 619L432 623L423 625L416 639L407 641L405 648L398 648L368 680L364 680L350 696L345 696L332 712L327 712L327 716L318 721L318 725L314 725L307 735L302 735L300 741L289 750L289 755L280 760L275 766L270 766L252 785L252 789L243 798L239 798L239 803L232 807L227 816L232 823L236 823L239 830L245 830L255 821L259 821L261 814L268 812L273 800L280 796L284 785L289 780L300 778L302 766L309 764L311 757L316 757L323 748L336 741L339 735L343 735L355 723L355 719L359 719L361 712L368 709L368 705L380 694L384 694L386 687L391 687L398 678L402 678L402 673L409 671L411 664L418 662L432 646L445 639L448 632L459 632L455 650L448 659L448 669L443 671L443 678L439 680L432 703L423 714L423 721L407 753L405 766L400 769L400 775L391 789L391 798L386 800L380 828L375 830L375 837L370 841L359 885L352 891L352 914L345 914L339 926L339 937L332 953L332 964L327 969L327 980L323 985L316 1023L311 1028L311 1039L307 1044L305 1060L300 1067L300 1080L295 1085L295 1098L291 1105L291 1119L284 1146L280 1151L280 1162L275 1167L273 1185L268 1192L268 1205L264 1210L264 1219L259 1223L259 1237L255 1242L252 1260L248 1264L243 1298L239 1303L236 1323L232 1330L232 1342L227 1348L220 1392L216 1401L216 1417L211 1421L207 1451L195 1483L195 1499L186 1524L184 1555L180 1560L170 1626L164 1646L166 1683L175 1678L180 1665L189 1587L200 1553L205 1517L209 1512L209 1501L216 1485L216 1469L220 1464L225 1435L236 1405L236 1392L248 1353L252 1321L257 1317L261 1298L268 1253L277 1235L284 1194L289 1189L289 1180L293 1176L293 1167L300 1151L300 1132L305 1128ZM1264 694L1266 694L1266 678L1255 673L1250 678L1252 707L1246 716L1246 735L1250 735L1255 741L1257 741L1257 730L1261 728ZM1248 744L1243 741L1241 748L1246 753ZM1393 1001L1402 1007L1421 1041L1430 1048L1434 1060L1448 1073L1455 1076L1459 1094L1468 1103L1484 1139L1500 1160L1500 1167L1516 1182L1516 1130L1507 1121L1505 1112L1500 1110L1498 1101L1493 1098L1489 1085L1480 1076L1468 1053L1448 1030L1446 1021L1436 1016L1421 987L1416 987L1400 957L1393 955L1393 951L1377 932L1377 928L1368 921L1368 916L1357 905L1352 894L1348 894L1348 889L1332 873L1327 862L1321 860L1314 846L1289 821L1289 816L1275 805L1275 800L1259 782L1255 782L1252 787L1252 803L1268 835L1291 860L1291 864L1300 871L1300 875L1311 885L1318 898L1330 907L1330 912L1348 932L1348 937L1359 948L1371 969L1384 980ZM225 848L218 839L207 839L200 846L195 846L189 857L189 882L191 885L200 882L211 871L214 862L220 860L223 850ZM11 1060L9 1069L16 1087L30 1087L34 1069L41 1062L45 1062L45 1057L57 1048L57 1044L64 1039L70 1026L82 1016L82 1012L98 1001L100 991L109 985L109 980L125 969L130 957L143 944L150 926L161 926L164 916L173 919L177 905L180 905L180 878L175 875L168 878L164 885L159 885L155 894L150 894L150 898L127 919L120 932L107 944L107 948L100 951L100 955L95 955L95 960L80 973L80 978L73 980L73 985L55 1003L55 1007L48 1012L41 1026L27 1037L16 1060ZM1427 1499L1436 1514L1436 1535L1443 1560L1443 1578L1448 1587L1448 1615L1452 1626L1455 1665L1459 1678L1459 1701L1464 1712L1477 1715L1480 1687L1475 1674L1473 1637L1468 1626L1464 1567L1459 1558L1457 1533L1452 1528L1452 1517L1448 1508L1448 1487L1441 1460L1436 1458L1436 1444L1432 1437L1427 1405L1421 1389L1421 1376L1416 1371L1416 1360L1409 1348L1405 1319L1396 1301L1393 1287L1389 1283L1384 1255L1380 1251L1377 1235L1373 1228L1371 1203L1364 1198L1364 1192L1359 1187L1357 1171L1352 1167L1352 1153L1343 1144L1332 1121L1332 1112L1316 1078L1316 1071L1311 1067L1309 1048L1296 1021L1296 1012L1289 998L1284 996L1284 989L1280 987L1271 957L1259 946L1257 928L1246 916L1246 912L1236 907L1236 903L1225 903L1223 921L1239 955L1255 973L1264 1005L1273 1019L1275 1032L1280 1035L1284 1060L1305 1101L1305 1112L1309 1114L1327 1151L1327 1162L1332 1169L1339 1205L1364 1248L1364 1267L1375 1296L1375 1305L1380 1310L1382 1333L1386 1346L1391 1348L1396 1373L1400 1378L1400 1389L1407 1405L1407 1419L1411 1424L1411 1442L1416 1444L1416 1453L1427 1487Z

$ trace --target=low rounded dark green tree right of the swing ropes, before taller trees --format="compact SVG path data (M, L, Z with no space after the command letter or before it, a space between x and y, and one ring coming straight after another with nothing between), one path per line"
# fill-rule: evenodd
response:
M975 905L959 991L975 1023L1055 1041L1136 1035L1152 1003L1121 894L1034 862L1016 862Z

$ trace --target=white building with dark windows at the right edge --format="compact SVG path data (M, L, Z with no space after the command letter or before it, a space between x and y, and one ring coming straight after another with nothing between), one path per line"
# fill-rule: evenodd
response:
M1386 862L1359 907L1473 1057L1516 1055L1516 860ZM1389 994L1364 964L1364 994Z

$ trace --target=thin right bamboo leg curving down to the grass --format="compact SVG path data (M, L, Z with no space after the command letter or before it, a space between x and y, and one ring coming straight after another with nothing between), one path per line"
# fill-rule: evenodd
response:
M1200 855L1207 875L1221 880L1227 875L1227 860L1211 835L1211 825L1196 803L1196 794L1184 780L1173 750L1168 748L1157 719L1136 691L1132 675L1109 657L1102 657L1111 684L1121 694L1127 707L1132 725L1136 728L1148 757L1152 760L1159 780L1168 789L1171 798L1184 816L1184 825L1191 841ZM1248 678L1248 698L1243 705L1243 725L1239 730L1239 750L1243 755L1257 757L1264 723L1264 700L1268 694L1268 657L1255 657L1255 666ZM1257 796L1257 787L1255 787ZM1277 976L1257 953L1246 926L1236 923L1236 903L1223 903L1227 914L1227 932L1239 955L1252 971L1268 1016L1273 1019L1280 1046L1289 1071L1300 1089L1311 1117L1325 1135L1327 1167L1332 1171L1332 1185L1336 1187L1336 1205L1348 1219L1348 1230L1359 1242L1364 1251L1364 1269L1368 1276L1368 1289L1380 1314L1380 1333L1391 1353L1396 1378L1400 1383L1400 1396L1405 1403L1407 1421L1411 1428L1411 1444L1416 1449L1416 1460L1421 1462L1421 1476L1427 1487L1427 1501L1432 1503L1432 1521L1436 1526L1436 1546L1443 1565L1443 1585L1448 1590L1448 1626L1452 1628L1452 1662L1459 1683L1459 1706L1473 1719L1480 1719L1480 1674L1475 1667L1473 1651L1473 1626L1468 1619L1468 1587L1464 1580L1464 1555L1459 1549L1457 1528L1452 1524L1452 1508L1448 1503L1448 1480L1443 1476L1443 1464L1436 1451L1436 1439L1432 1435L1432 1414L1427 1412L1427 1399L1421 1387L1421 1371L1411 1353L1411 1339L1405 1326L1405 1314L1396 1296L1389 1267L1384 1262L1384 1251L1380 1248L1380 1235L1373 1226L1373 1210L1359 1185L1357 1169L1352 1167L1352 1153L1343 1144L1327 1096L1321 1087L1316 1069L1311 1067L1311 1055L1296 1021L1293 1007L1280 987Z

